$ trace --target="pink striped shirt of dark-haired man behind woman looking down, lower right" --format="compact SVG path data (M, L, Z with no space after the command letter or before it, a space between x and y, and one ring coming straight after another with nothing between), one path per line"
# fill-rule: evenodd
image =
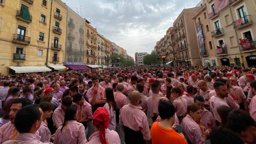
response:
M214 116L206 108L202 110L200 124L206 129L213 129L216 127Z

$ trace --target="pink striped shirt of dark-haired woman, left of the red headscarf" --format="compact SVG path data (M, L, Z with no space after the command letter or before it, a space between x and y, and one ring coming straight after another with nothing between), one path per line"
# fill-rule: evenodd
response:
M56 130L54 144L85 144L87 142L83 124L69 120L61 131L62 127Z

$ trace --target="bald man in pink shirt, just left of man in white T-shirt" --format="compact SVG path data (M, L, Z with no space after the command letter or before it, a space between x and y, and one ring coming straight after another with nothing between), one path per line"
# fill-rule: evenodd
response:
M207 83L203 80L197 83L197 95L201 95L204 98L204 106L208 110L210 109L210 97L209 92L211 89L207 86Z

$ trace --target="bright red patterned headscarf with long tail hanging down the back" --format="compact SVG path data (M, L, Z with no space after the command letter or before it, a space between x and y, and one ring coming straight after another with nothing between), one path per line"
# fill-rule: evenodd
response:
M99 138L102 144L107 144L105 129L108 128L109 125L109 114L106 108L97 108L97 110L93 114L93 122L99 126Z

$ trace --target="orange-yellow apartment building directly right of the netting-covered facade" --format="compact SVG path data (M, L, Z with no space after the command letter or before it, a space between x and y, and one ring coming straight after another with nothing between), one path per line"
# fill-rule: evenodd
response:
M87 19L85 20L85 32L86 32L86 54L85 60L87 64L98 63L98 49L96 48L97 43L97 29L90 25Z

